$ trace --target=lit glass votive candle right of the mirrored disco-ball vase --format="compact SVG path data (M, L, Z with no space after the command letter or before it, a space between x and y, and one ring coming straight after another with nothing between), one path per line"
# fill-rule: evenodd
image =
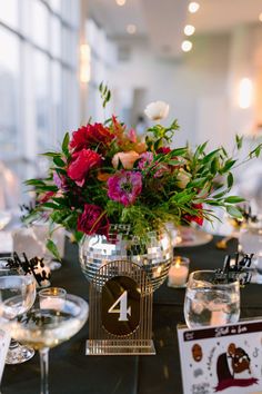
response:
M174 256L169 269L169 287L185 287L189 276L190 259L184 256Z

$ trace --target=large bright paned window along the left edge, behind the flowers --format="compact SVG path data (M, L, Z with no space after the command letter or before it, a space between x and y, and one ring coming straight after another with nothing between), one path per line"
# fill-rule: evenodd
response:
M80 122L79 26L80 0L0 1L0 161L21 180Z

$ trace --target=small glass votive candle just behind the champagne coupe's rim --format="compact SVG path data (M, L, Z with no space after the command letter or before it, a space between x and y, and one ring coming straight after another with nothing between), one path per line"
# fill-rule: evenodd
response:
M67 298L67 290L61 287L43 288L38 293L41 309L61 311Z

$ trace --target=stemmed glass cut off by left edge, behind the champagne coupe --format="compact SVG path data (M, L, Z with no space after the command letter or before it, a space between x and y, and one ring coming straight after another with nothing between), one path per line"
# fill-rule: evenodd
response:
M36 299L36 280L33 275L24 275L7 264L6 258L0 259L0 314L2 318L12 321L32 307ZM6 364L24 363L33 355L33 348L11 339Z

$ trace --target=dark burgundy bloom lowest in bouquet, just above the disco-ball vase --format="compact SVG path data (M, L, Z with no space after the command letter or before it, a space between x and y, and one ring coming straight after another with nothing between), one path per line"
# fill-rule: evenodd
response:
M88 235L109 235L109 219L102 208L93 204L84 204L84 209L78 217L78 230Z

